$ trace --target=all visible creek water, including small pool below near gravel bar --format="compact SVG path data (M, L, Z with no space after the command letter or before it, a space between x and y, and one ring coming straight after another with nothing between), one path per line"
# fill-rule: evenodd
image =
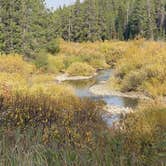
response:
M138 99L119 97L119 96L98 96L90 92L89 88L93 85L103 83L107 81L113 73L112 69L103 70L98 73L94 78L88 80L72 80L65 81L70 84L74 89L77 96L83 98L88 97L92 100L103 100L107 106L117 106L119 108L135 108L138 104ZM114 122L117 122L120 118L120 114L110 114L106 113L103 115L104 121L108 126L112 126Z

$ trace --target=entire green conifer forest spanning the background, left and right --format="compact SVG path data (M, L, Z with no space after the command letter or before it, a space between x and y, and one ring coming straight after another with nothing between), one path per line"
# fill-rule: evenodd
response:
M0 52L34 57L55 38L96 41L166 37L166 0L77 0L50 11L44 0L0 0ZM55 47L55 48L54 48Z

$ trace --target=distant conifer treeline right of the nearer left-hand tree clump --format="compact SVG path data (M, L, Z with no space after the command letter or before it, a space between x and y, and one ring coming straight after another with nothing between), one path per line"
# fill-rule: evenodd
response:
M57 34L69 41L165 39L165 0L85 0L55 11Z

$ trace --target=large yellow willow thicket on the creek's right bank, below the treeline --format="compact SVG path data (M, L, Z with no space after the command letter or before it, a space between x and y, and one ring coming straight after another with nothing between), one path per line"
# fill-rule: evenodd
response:
M165 96L165 43L136 40L126 44L129 47L115 67L115 82L120 85L120 90Z

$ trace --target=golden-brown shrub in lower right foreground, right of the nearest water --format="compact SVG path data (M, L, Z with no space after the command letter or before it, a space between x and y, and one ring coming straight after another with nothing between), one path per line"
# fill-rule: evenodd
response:
M160 144L160 138L164 140L166 105L161 101L142 103L137 111L127 115L123 125L126 136L124 148L139 156L142 151L151 148L154 142Z

